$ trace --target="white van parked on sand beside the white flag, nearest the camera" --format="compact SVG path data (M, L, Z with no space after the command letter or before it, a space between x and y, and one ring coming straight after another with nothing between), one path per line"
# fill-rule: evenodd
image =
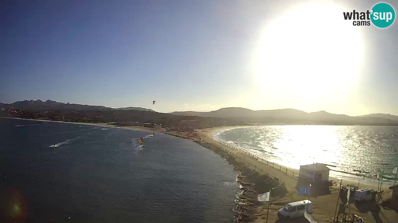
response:
M279 218L303 217L304 210L307 210L308 213L312 213L312 211L314 210L314 205L310 200L296 201L285 205L285 207L279 209L278 217Z

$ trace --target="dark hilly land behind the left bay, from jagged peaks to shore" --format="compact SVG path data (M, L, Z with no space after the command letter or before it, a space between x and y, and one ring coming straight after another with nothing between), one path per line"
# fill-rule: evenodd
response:
M11 113L8 108L14 107ZM85 123L115 123L119 126L134 126L136 122L160 123L163 126L176 127L188 125L194 128L210 128L229 125L248 125L243 121L222 119L218 117L197 117L172 115L154 112L150 109L128 107L107 108L104 106L90 106L70 104L47 100L25 100L12 104L0 103L0 117L18 117L29 119L44 119L52 121L71 121Z

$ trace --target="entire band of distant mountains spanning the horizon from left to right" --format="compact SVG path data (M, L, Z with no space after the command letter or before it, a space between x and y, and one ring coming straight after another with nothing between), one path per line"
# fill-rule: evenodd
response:
M221 108L211 112L172 112L172 113L158 113L151 109L140 108L140 107L126 107L126 108L108 108L105 106L90 106L82 104L70 104L56 102L52 100L24 100L17 101L12 104L0 103L0 108L8 109L14 107L17 110L25 111L96 111L105 113L114 113L115 110L119 111L142 111L149 113L142 113L141 115L148 117L163 117L167 116L168 119L183 120L184 116L190 116L189 119L194 120L191 116L196 117L211 117L221 118L224 122L239 122L246 123L249 125L398 125L398 116L390 114L369 114L360 116L348 116L332 114L325 111L320 112L303 112L296 109L278 109L278 110L250 110L247 108ZM154 113L152 113L154 112ZM154 115L154 114L157 115ZM123 113L124 114L124 113ZM125 118L129 117L129 113L126 113ZM130 113L132 115L133 113ZM135 112L135 117L138 118L138 113ZM163 114L163 116L162 116ZM160 116L159 116L160 115ZM172 118L170 115L176 115ZM165 116L165 117L166 117ZM179 116L179 117L177 117ZM188 119L188 118L187 118ZM155 120L155 119L154 119ZM211 122L213 119L206 119ZM230 121L228 121L230 120ZM214 121L214 120L213 120Z

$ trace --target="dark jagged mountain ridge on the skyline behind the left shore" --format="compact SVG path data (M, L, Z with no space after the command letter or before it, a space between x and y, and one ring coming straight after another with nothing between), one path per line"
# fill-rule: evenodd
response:
M24 100L17 101L12 104L0 103L0 108L10 108L14 107L19 110L31 110L31 111L43 111L43 110L83 110L83 111L104 111L104 110L115 110L115 108L108 108L105 106L92 106L92 105L82 105L82 104L70 104L56 102L52 100L42 101L42 100ZM155 112L152 109L146 109L141 107L127 107L127 108L116 108L116 110L139 110L139 111L149 111Z

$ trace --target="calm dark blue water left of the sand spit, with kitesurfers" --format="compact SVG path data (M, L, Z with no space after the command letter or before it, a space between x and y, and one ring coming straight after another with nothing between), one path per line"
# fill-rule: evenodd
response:
M0 126L0 220L116 222L116 211L119 222L233 219L237 173L191 140L155 134L140 148L149 133L4 118Z

